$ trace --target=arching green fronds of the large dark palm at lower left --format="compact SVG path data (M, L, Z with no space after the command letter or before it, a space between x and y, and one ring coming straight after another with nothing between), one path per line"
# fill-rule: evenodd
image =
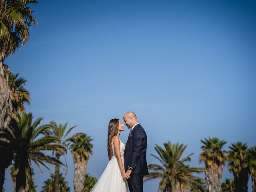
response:
M42 164L48 168L44 162L50 164L60 163L55 158L44 153L44 151L55 151L59 145L54 136L42 136L42 133L49 128L48 125L38 126L43 118L38 118L32 123L33 116L31 113L18 114L17 118L10 116L9 128L10 133L14 135L12 143L14 144L14 152L16 154L15 163L20 158L27 158L34 161L36 165ZM39 136L42 136L39 138ZM30 166L29 164L27 166ZM39 166L40 167L40 166Z

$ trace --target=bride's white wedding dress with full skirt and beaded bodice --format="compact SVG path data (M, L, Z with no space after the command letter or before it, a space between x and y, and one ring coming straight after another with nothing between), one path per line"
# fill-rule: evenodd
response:
M120 153L124 167L125 145L120 140ZM125 180L122 178L120 168L116 159L114 144L112 140L112 158L99 180L96 182L90 192L126 192Z

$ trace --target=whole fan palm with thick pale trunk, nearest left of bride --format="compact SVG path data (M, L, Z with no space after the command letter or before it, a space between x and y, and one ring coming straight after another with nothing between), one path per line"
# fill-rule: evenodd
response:
M87 163L92 155L92 139L84 133L76 133L68 141L74 161L74 192L82 192Z

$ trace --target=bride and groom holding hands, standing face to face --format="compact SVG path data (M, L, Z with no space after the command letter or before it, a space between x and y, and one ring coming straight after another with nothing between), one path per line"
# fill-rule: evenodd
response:
M126 145L119 136L124 125L131 129ZM91 192L143 192L143 177L148 175L146 161L147 135L134 112L124 114L124 125L119 119L108 124L108 158L106 169Z

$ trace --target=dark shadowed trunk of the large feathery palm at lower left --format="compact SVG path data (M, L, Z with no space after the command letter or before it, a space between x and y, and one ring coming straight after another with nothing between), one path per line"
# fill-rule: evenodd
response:
M19 171L16 175L16 192L26 192L26 159L20 160Z

